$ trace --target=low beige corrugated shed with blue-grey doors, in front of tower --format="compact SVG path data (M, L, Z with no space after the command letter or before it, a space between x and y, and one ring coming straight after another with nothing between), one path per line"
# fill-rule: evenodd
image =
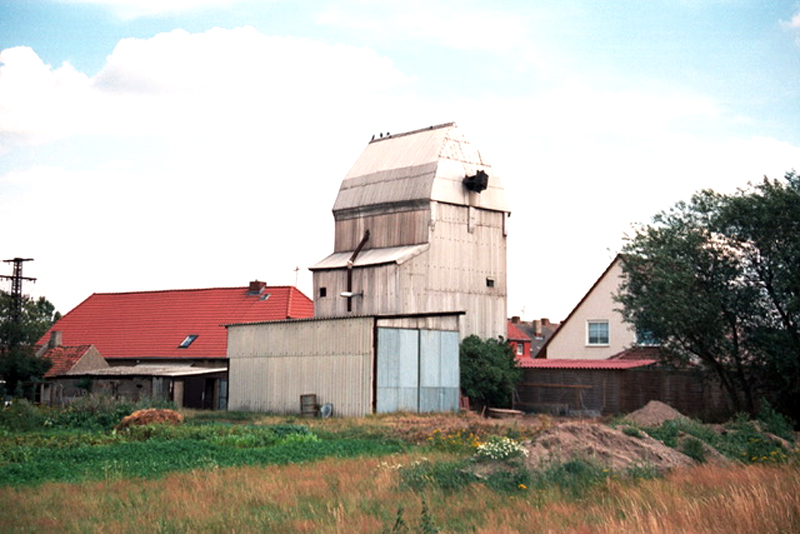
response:
M232 410L337 415L458 409L458 313L228 326Z

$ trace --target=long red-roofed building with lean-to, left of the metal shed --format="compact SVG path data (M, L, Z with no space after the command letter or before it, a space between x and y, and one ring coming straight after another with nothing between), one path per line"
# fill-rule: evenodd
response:
M187 408L224 409L230 322L309 318L313 303L294 287L95 293L39 341L54 365L42 401L63 404L86 391L156 397Z

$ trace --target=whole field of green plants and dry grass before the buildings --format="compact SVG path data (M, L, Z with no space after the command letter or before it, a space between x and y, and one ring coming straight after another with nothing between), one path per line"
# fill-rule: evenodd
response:
M755 441L752 427L718 443L730 456L758 446L747 462L663 476L587 462L531 473L512 447L479 477L480 444L553 422L222 415L129 433L0 431L0 531L800 532L798 462Z

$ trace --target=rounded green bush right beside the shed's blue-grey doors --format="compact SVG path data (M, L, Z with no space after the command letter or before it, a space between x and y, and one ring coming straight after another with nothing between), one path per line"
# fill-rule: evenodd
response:
M514 351L502 338L482 340L471 335L461 342L461 390L485 406L510 405L511 394L522 378Z

